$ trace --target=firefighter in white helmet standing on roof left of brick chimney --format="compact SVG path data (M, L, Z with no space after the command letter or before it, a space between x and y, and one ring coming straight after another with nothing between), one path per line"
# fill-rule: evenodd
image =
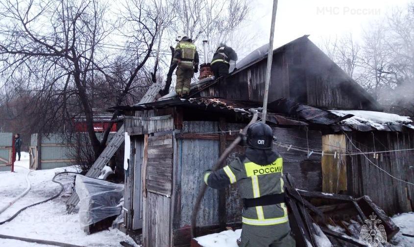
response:
M178 64L175 74L177 81L175 92L178 96L190 92L191 78L198 72L198 53L193 41L184 36L175 46L173 61Z

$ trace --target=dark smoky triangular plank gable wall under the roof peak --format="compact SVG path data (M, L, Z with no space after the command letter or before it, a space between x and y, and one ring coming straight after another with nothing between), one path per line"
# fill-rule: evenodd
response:
M200 95L262 102L266 67L263 59L241 68ZM307 38L273 54L268 97L269 102L291 98L322 108L379 110L375 100Z

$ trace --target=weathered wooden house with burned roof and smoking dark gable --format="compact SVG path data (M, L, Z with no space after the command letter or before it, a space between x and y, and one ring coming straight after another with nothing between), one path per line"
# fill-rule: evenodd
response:
M381 112L307 36L272 55L267 122L284 173L302 190L367 195L388 214L412 211L414 187L403 182L414 182L414 156L407 155L414 148L411 120ZM249 109L260 111L266 58L250 61L225 81L198 81L185 99L172 92L118 108L131 142L124 226L142 229L146 247L189 245L202 173L250 120ZM239 147L226 162L243 152ZM240 225L241 208L234 186L208 189L198 231Z

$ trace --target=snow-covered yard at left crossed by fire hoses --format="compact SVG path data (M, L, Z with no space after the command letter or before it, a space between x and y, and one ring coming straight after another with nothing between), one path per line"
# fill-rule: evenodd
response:
M22 153L21 161L15 164L28 167L29 156ZM53 176L62 171L74 171L73 167L51 170L32 171L29 175L31 190L6 211L0 214L0 222L8 219L20 208L43 201L55 195L60 186L51 181ZM22 193L26 188L27 170L15 167L15 173L0 172L0 208ZM61 175L58 179L71 186L73 176ZM64 193L62 193L64 194ZM134 241L117 229L86 235L79 225L78 214L67 214L65 202L67 197L58 197L52 201L31 207L22 212L13 221L0 225L0 234L24 238L57 241L87 247L121 247L121 241L134 244ZM17 240L0 239L4 247L49 247L46 245L26 243ZM136 246L136 245L134 245Z

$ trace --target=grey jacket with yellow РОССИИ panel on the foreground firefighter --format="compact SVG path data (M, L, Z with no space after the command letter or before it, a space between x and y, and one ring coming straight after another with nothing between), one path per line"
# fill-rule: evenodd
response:
M283 161L277 158L267 165L259 165L247 157L236 158L231 164L215 172L206 172L204 182L220 189L230 183L238 184L242 199L281 194L283 189ZM242 222L247 225L278 225L288 222L285 203L248 207L243 210Z

